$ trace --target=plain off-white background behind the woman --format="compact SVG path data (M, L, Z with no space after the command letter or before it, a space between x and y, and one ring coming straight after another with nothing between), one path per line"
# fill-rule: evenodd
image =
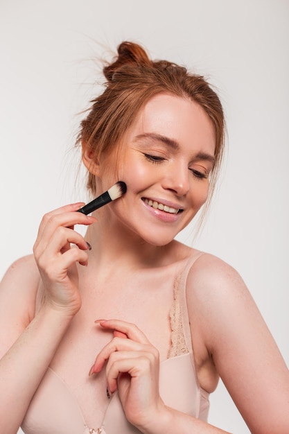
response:
M240 272L289 364L288 18L287 0L0 0L0 275L42 214L85 200L70 148L99 90L98 43L141 42L218 88L226 166L195 245ZM249 433L222 383L209 422Z

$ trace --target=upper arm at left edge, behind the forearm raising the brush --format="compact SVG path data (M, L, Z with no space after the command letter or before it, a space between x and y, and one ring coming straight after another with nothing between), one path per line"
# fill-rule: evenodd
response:
M40 275L33 255L12 263L0 282L0 358L33 319Z

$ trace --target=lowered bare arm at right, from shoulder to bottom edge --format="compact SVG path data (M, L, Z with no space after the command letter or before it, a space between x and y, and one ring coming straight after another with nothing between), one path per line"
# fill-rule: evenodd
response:
M288 433L288 368L238 272L204 255L187 285L191 322L251 432Z

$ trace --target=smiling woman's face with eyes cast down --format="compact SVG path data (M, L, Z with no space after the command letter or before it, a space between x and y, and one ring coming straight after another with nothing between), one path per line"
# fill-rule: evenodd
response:
M103 209L105 218L152 245L169 243L207 200L214 151L213 127L200 105L158 94L125 136L118 180L128 190ZM116 182L105 171L100 177L103 190Z

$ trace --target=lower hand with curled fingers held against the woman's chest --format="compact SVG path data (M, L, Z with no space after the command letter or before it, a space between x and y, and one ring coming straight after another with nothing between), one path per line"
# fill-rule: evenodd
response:
M132 323L97 322L100 327L114 330L114 336L96 357L90 374L105 369L108 392L118 390L127 419L141 427L164 407L159 396L159 351Z

